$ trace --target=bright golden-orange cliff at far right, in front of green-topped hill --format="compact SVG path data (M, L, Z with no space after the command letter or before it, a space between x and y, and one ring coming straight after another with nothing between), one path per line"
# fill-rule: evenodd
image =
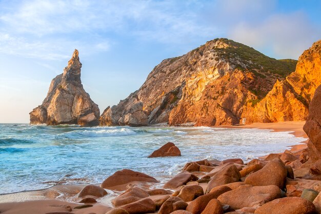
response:
M321 84L321 41L299 57L296 69L255 104L248 103L242 114L246 123L305 121L313 94Z

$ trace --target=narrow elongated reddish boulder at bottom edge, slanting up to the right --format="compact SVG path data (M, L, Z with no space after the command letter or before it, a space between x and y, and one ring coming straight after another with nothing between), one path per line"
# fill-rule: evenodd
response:
M231 188L222 186L219 189L216 189L216 191L204 194L203 196L200 196L190 202L190 204L186 207L186 211L192 212L193 214L200 214L212 199L217 199L217 197L219 197L221 194L230 190Z

